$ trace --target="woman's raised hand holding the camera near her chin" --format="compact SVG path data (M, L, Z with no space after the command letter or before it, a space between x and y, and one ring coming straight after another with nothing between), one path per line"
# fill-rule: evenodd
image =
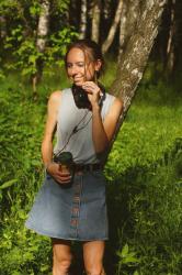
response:
M91 102L92 107L99 105L100 96L101 96L101 89L100 87L93 82L93 81L86 81L82 85L82 88L88 94L89 101Z

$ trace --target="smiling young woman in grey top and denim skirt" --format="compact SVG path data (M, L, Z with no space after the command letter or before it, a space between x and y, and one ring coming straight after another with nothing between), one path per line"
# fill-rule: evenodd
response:
M102 166L122 102L98 84L103 57L96 43L89 40L72 43L65 64L73 86L49 97L42 143L46 177L26 227L52 238L53 275L69 274L71 240L82 241L87 274L104 275L107 216ZM78 102L80 88L87 95L86 107ZM57 143L53 147L55 131ZM72 154L73 179L69 167L54 161L54 155L62 152Z

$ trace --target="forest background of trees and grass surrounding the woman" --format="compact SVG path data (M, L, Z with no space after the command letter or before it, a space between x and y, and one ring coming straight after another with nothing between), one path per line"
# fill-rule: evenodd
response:
M130 101L139 86L105 165L105 268L109 275L181 275L180 0L0 0L0 274L50 274L49 239L26 230L24 221L44 176L41 142L47 99L70 85L64 69L67 44L89 37L102 46L106 72L101 81L113 91L116 76L123 85L127 75L118 68L132 56L130 41L151 36L144 14L152 21L160 13L158 35L145 59L145 47L134 53L141 74L134 81L127 77ZM80 275L81 246L75 244L73 252L72 273Z

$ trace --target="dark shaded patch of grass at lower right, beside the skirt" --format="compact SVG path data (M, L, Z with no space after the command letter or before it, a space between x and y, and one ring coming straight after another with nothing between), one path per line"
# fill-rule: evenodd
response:
M111 232L111 245L118 246L118 274L181 272L182 140L164 156L150 167L129 167L109 186L111 224L117 228Z

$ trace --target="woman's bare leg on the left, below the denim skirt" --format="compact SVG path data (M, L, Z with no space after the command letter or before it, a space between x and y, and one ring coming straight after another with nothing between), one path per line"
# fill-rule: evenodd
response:
M71 264L70 241L52 239L53 242L53 275L68 275Z

